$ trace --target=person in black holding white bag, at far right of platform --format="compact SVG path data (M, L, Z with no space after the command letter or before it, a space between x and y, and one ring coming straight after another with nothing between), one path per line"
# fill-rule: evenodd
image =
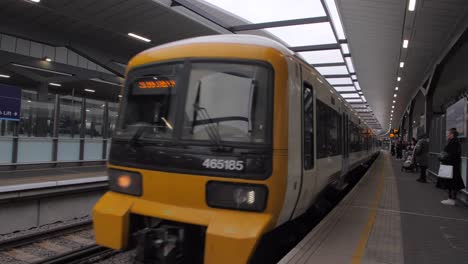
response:
M453 166L453 170L452 178L446 179L449 198L441 201L441 203L446 205L455 205L458 191L465 188L465 184L461 177L461 145L456 128L449 129L448 143L444 148L444 152L446 153L446 157L441 160L441 163Z

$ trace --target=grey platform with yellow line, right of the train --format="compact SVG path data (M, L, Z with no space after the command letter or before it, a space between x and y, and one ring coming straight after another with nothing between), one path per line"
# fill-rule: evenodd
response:
M468 208L382 152L363 179L279 263L465 263Z

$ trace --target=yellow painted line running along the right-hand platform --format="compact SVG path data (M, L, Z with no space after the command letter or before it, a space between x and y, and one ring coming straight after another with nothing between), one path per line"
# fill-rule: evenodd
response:
M388 159L388 156L385 156L385 158ZM386 160L383 160L383 162L384 162L384 171L388 170L387 168L388 161L386 162ZM359 243L356 247L356 250L354 251L353 257L351 258L351 264L360 264L364 257L367 241L369 240L372 227L374 226L375 218L377 217L377 211L378 211L377 209L379 207L380 199L382 198L382 193L383 193L384 184L385 184L384 174L385 173L379 174L380 175L379 183L377 186L377 190L375 192L374 201L372 203L369 216L367 217L367 223L361 232L361 236L359 237Z

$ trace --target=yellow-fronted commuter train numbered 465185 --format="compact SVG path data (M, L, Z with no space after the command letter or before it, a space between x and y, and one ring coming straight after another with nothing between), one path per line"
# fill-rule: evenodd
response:
M136 263L248 263L377 151L326 79L274 40L154 47L128 64L96 242L135 246Z

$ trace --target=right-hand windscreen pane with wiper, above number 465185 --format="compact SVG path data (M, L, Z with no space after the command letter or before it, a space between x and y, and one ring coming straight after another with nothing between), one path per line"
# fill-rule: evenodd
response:
M270 79L261 65L193 63L182 138L268 143Z

